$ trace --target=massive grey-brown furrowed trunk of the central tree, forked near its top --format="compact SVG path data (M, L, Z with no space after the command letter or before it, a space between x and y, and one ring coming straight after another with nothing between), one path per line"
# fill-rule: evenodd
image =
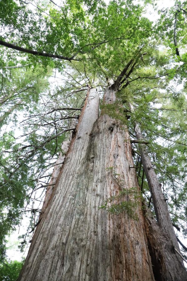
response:
M104 100L115 100L112 88ZM138 220L98 208L121 188L138 188L128 131L98 118L98 106L91 89L19 280L155 280L141 202Z

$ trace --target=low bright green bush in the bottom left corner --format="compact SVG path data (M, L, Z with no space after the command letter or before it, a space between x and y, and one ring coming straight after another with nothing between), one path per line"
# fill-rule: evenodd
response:
M24 259L21 262L6 260L0 264L0 281L16 281L24 262Z

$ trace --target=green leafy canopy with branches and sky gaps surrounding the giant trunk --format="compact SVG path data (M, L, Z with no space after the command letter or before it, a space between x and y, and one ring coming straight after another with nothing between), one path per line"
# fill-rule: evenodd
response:
M157 22L147 18L147 7L159 14ZM22 250L33 234L61 144L75 129L88 87L97 87L102 104L117 77L117 101L101 105L102 114L117 119L121 129L127 126L132 140L139 123L176 234L187 238L186 15L187 2L178 0L162 10L154 1L0 2L1 262L6 235L23 218L29 223ZM153 214L154 206L133 142L132 154L141 195L122 188L101 208L136 219L141 196Z

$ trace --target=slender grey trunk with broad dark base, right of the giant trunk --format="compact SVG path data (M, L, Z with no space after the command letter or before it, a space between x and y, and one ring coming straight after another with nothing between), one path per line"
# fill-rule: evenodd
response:
M131 111L134 112L132 104ZM134 130L137 140L145 141L141 134L140 127L135 121ZM161 190L161 184L157 179L155 170L146 150L146 145L140 143L139 150L141 161L146 174L146 179L151 192L156 220L151 213L146 210L146 234L148 237L149 249L153 264L153 271L156 280L187 280L187 272L183 260L175 251L179 249L179 244L171 222L169 210ZM146 208L147 209L147 208Z

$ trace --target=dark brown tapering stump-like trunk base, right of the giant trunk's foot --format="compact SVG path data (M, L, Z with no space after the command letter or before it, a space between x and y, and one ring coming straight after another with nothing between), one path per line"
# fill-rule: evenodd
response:
M187 272L167 234L161 231L145 205L145 229L156 281L186 281Z

